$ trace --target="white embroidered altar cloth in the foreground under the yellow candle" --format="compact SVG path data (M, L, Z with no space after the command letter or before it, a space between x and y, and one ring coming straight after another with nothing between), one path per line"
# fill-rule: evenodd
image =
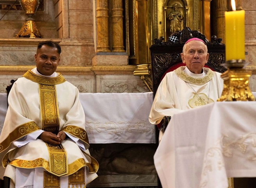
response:
M256 177L256 102L175 114L154 163L163 188L227 188L227 177Z

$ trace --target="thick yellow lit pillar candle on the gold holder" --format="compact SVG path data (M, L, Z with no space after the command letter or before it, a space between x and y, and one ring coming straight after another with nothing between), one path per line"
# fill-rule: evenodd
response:
M245 59L244 10L225 12L226 61Z

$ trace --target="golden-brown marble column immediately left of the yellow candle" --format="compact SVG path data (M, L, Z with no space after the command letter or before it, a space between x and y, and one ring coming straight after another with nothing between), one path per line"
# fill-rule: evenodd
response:
M217 0L217 34L225 44L225 12L227 11L227 0Z

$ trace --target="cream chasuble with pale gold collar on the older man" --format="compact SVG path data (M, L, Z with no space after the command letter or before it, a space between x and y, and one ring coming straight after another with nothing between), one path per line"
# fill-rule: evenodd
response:
M209 103L217 101L221 96L221 73L204 67L206 75L196 78L185 73L184 69L183 66L167 73L161 81L150 110L150 123L158 124L164 116L173 116L178 112L205 105L208 103L208 96Z

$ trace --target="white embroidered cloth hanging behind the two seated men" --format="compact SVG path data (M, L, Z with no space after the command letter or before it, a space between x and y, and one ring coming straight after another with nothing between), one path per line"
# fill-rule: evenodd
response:
M149 123L153 93L81 93L86 132L91 144L156 143ZM7 111L6 94L0 94L0 133Z

